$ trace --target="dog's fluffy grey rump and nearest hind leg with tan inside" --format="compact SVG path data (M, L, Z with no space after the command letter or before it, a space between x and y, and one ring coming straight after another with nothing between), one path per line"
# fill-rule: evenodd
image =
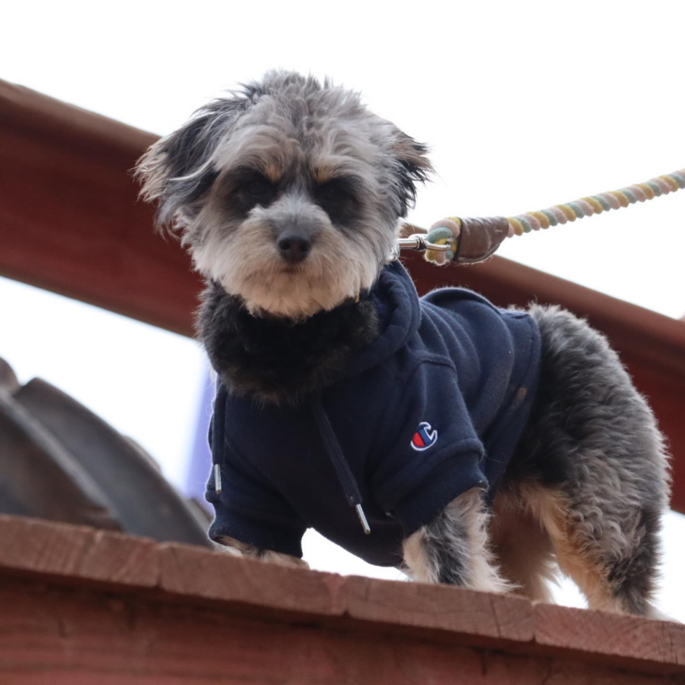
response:
M510 464L558 563L593 609L654 615L668 459L654 414L607 340L558 308L533 306L538 397Z

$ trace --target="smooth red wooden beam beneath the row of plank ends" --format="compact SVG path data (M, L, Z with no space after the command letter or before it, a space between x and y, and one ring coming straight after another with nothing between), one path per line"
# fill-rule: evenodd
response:
M149 603L130 595L0 588L0 683L13 685L597 685L682 683L545 656L523 656L311 623Z

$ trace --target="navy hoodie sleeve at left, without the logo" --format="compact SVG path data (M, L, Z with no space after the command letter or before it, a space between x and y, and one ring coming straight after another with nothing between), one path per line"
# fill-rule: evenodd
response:
M210 445L212 444L210 426ZM287 501L259 473L233 454L224 443L215 455L221 470L222 489L216 491L214 468L205 498L215 510L208 534L215 542L233 538L259 549L270 549L302 558L302 536L307 528Z

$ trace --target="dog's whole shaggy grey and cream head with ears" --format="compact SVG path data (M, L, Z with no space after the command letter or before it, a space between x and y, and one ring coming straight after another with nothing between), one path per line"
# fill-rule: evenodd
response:
M292 319L373 285L430 171L358 94L288 72L201 108L138 165L196 268L255 315Z

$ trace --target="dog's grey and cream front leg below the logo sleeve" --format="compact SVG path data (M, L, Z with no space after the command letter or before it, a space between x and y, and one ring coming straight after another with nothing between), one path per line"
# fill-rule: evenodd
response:
M405 572L424 583L509 591L512 586L500 577L493 562L488 521L482 491L474 488L463 493L404 541Z

